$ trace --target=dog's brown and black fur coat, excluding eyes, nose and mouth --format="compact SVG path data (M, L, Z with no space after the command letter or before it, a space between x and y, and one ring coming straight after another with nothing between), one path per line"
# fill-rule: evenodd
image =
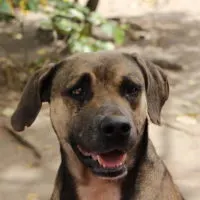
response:
M79 105L70 97L63 97L61 91L73 86L83 73L91 77L92 94L84 105ZM119 91L124 76L143 86L133 104ZM162 70L138 55L81 53L36 72L27 83L11 122L15 130L24 130L34 122L42 102L49 102L62 160L51 200L183 200L148 139L147 116L160 124L160 112L168 94ZM83 134L80 136L83 144L102 147L103 144L90 139L98 135L96 122L91 125L91 120L110 113L123 114L137 131L126 161L128 173L117 180L93 175L68 141L71 134Z

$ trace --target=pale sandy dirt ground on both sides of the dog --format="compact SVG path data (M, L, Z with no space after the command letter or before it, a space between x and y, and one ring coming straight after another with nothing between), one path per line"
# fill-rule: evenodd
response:
M166 58L183 66L182 71L165 70L171 94L163 109L163 124L161 127L151 124L150 137L185 199L199 200L200 2L160 2L157 9L151 9L139 3L130 5L129 0L123 0L123 4L117 0L102 0L99 11L106 16L128 15L134 23L148 30L144 31L144 41L136 41L120 50L136 51L149 58ZM6 45L6 41L3 42ZM17 46L14 46L12 53L17 52ZM2 53L0 50L0 55ZM15 108L18 99L17 93L1 91L2 112L11 114L10 108ZM3 129L8 120L7 117L0 118L0 199L49 199L60 158L58 142L48 118L48 105L44 105L32 127L20 133L34 145L36 152L17 142Z

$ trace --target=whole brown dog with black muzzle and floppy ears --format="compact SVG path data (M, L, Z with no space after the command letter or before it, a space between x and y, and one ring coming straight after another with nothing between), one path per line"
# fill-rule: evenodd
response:
M182 200L148 139L169 86L136 55L82 53L41 69L12 116L23 131L49 102L62 162L51 200Z

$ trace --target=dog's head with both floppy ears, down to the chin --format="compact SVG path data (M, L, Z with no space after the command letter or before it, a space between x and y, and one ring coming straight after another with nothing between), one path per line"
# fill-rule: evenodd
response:
M12 125L24 130L42 102L49 102L53 128L69 160L76 157L98 176L119 178L134 165L147 115L160 123L168 94L161 69L137 55L82 53L32 76Z

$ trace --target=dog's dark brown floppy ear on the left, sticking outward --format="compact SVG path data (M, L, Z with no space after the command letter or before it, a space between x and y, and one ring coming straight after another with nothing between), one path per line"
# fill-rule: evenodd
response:
M58 65L50 64L35 72L27 82L21 100L11 117L12 127L16 131L23 131L30 126L37 117L42 102L50 101L51 81Z

